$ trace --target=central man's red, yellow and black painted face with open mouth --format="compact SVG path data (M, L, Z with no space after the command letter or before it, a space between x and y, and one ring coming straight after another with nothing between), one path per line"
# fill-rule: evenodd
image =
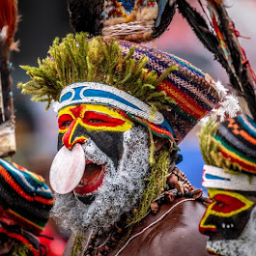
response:
M69 150L90 139L111 158L115 167L123 154L124 132L133 127L133 123L122 112L97 104L79 104L67 106L58 114L59 136L58 150L63 146ZM102 184L104 166L87 161L84 175L74 188L78 194L94 192Z

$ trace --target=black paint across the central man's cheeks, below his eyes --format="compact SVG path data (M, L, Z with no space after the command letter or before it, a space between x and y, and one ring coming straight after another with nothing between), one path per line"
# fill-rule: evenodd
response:
M62 137L63 133L59 133L58 136L58 150L63 146ZM117 168L119 159L123 153L123 141L124 141L124 132L120 131L88 131L80 125L77 125L73 131L71 141L77 137L90 137L99 149L106 155L109 156L115 167ZM86 143L86 142L85 142Z

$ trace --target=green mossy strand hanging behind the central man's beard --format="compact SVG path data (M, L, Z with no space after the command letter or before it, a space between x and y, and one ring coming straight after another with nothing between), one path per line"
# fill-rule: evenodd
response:
M170 149L164 146L156 153L155 164L152 167L150 177L146 179L147 185L141 196L138 212L134 214L130 225L137 223L148 213L153 200L166 188L170 163Z

